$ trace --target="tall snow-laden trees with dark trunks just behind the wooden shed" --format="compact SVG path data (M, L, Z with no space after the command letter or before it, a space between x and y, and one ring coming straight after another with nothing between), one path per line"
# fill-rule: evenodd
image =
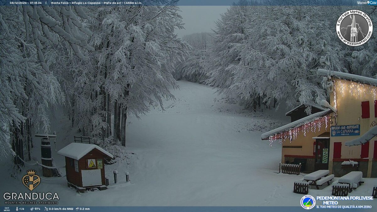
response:
M174 33L183 27L175 4L93 8L88 25L95 51L85 55L88 61L73 61L67 81L75 88L75 123L100 145L110 139L125 146L128 115L139 117L155 104L163 109L163 98L174 99L173 68L187 49Z

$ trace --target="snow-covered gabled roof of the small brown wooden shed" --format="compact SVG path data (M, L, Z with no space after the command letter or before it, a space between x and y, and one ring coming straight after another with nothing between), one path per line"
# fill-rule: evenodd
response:
M63 155L65 157L73 158L75 160L80 160L84 155L88 154L93 149L98 149L103 154L107 155L109 158L114 158L112 154L105 151L101 147L95 144L84 144L84 143L70 143L63 149L58 151L58 155Z

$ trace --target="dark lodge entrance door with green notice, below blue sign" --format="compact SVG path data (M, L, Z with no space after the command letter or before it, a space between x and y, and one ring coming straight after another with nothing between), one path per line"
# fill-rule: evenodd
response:
M329 151L330 151L330 139L320 138L316 139L316 157L314 163L315 171L328 170L329 168Z

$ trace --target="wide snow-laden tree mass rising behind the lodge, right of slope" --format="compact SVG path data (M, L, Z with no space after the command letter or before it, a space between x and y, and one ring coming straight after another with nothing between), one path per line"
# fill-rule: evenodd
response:
M321 6L231 6L216 25L207 83L254 104L325 99L316 69L346 69L333 23L323 17Z

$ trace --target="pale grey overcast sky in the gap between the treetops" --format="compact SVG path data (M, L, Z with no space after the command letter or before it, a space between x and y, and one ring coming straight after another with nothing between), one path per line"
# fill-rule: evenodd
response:
M179 6L185 29L177 30L179 37L197 32L210 32L215 21L229 6Z

